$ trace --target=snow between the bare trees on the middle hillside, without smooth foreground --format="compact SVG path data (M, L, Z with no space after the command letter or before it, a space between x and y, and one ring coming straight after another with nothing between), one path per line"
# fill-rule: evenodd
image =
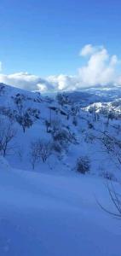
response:
M76 93L73 93L74 95ZM116 102L118 102L119 110L119 100L110 103L98 102L89 105L87 108L82 108L81 102L78 102L78 99L77 102L71 101L60 105L56 99L41 96L37 92L27 92L6 84L0 84L2 123L3 119L5 121L8 119L8 115L11 118L16 113L15 97L22 97L23 111L26 108L33 108L37 109L40 115L30 127L26 128L26 132L23 132L22 126L14 118L14 128L17 132L12 143L9 145L11 150L6 154L6 158L11 166L32 170L31 147L32 142L38 139L47 141L49 144L57 143L57 146L59 146L60 141L54 141L52 136L52 129L55 129L55 127L49 127L50 130L47 132L45 125L47 121L51 122L52 125L53 121L55 121L58 126L57 129L66 131L69 137L71 137L71 141L69 141L66 148L62 148L62 152L57 147L56 150L52 150L46 162L43 163L43 160L37 162L35 164L35 172L66 172L68 175L71 175L72 172L76 172L78 158L80 156L88 156L90 161L89 172L91 174L104 177L110 176L113 180L121 179L118 158L112 152L109 154L104 143L104 139L107 139L104 134L105 131L107 131L108 136L120 140L120 119L107 119L107 115L101 114L99 118L99 116L95 116L96 111L90 111L92 108L99 109L103 105L105 107L106 105L112 106ZM82 95L80 101L83 100ZM72 141L72 137L74 141Z

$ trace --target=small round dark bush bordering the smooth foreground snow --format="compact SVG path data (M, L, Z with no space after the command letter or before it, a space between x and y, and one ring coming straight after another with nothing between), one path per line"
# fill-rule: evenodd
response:
M87 156L80 156L77 160L76 164L76 170L80 173L85 174L86 172L89 172L90 169L90 161Z

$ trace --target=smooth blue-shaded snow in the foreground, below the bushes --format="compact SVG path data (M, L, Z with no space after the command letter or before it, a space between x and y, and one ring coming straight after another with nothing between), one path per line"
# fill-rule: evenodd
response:
M119 189L115 183L115 188ZM0 255L120 256L103 179L0 170Z

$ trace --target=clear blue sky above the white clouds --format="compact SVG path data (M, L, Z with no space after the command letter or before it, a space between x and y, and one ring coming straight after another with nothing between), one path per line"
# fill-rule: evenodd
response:
M85 44L121 56L119 0L1 0L3 73L74 74Z

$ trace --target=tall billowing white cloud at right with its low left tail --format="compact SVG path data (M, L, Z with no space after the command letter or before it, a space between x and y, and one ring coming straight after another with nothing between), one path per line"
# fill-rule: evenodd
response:
M88 56L88 61L84 67L78 68L77 75L50 76L49 83L58 90L79 90L95 85L119 84L121 76L118 78L117 75L117 55L110 56L103 46L93 47L91 44L85 45L80 55Z

